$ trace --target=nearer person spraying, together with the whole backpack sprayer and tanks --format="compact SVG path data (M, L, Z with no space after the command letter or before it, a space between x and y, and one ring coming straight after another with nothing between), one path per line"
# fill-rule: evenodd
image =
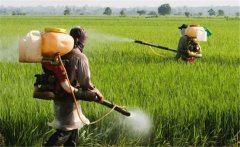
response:
M30 32L20 41L19 61L40 62L44 74L36 75L34 97L54 101L56 132L44 146L77 146L78 129L91 124L77 100L95 101L126 116L125 109L108 102L90 82L87 57L83 54L86 32L77 26L70 35L65 30L47 28Z

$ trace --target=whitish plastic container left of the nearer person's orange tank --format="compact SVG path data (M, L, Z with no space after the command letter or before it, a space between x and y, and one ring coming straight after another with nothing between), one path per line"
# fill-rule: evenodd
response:
M42 37L37 30L30 31L19 41L19 62L37 63L42 61Z

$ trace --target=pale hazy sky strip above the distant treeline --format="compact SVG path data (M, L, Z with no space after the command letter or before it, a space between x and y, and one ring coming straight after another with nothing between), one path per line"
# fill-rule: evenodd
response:
M239 6L239 0L0 0L3 6L101 6L128 8L136 6Z

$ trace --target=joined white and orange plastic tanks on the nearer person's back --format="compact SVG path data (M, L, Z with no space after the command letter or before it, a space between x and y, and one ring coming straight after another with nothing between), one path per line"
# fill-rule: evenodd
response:
M41 62L56 53L65 55L73 49L73 38L64 29L46 28L45 32L30 31L19 41L19 62Z

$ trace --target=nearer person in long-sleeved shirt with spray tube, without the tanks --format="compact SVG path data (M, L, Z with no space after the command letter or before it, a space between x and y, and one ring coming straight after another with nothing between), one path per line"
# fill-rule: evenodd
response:
M55 92L55 120L51 126L57 131L44 146L76 146L78 129L85 124L90 124L90 121L81 113L80 105L76 102L77 99L99 102L124 115L130 115L119 106L104 100L101 92L90 82L88 59L83 54L87 38L84 29L79 26L74 27L71 29L70 35L74 39L74 48L66 55L58 56L58 61L60 61L58 66L42 62L43 69L53 72L59 83L63 83L66 79L68 82L68 89L62 86L63 89ZM68 62L63 65L62 59L68 60Z

